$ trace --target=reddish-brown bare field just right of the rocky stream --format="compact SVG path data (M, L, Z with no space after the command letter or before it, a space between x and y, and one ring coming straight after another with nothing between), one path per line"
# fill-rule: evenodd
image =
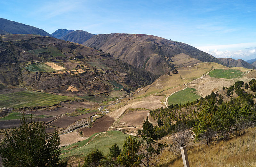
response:
M99 118L98 120L96 120L92 127L86 127L81 129L84 133L84 136L91 136L94 133L97 132L105 132L108 130L108 128L112 125L112 123L115 120L111 117L108 117L107 115L103 116L102 118Z

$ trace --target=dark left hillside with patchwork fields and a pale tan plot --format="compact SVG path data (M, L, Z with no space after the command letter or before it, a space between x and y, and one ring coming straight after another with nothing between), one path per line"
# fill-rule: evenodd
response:
M134 90L157 77L81 44L30 34L0 37L0 84L5 86L92 95Z

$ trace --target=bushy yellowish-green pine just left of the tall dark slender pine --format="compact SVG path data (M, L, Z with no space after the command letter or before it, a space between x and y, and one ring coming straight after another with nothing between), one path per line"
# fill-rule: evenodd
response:
M142 158L142 155L138 154L140 142L130 135L124 141L123 147L123 151L117 157L117 162L125 167L139 166Z

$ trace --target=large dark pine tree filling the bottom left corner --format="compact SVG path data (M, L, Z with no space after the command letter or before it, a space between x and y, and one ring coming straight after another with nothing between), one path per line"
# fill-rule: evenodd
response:
M55 129L51 135L45 132L42 122L35 122L23 115L19 128L8 134L5 145L0 147L3 166L67 166L60 163L60 137Z

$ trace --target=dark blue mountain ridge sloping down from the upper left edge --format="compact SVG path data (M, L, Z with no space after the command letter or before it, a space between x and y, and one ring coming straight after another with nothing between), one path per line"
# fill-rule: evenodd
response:
M0 29L11 34L36 34L36 35L51 36L49 33L47 33L42 29L30 26L30 25L18 23L15 21L7 20L4 18L0 18Z

